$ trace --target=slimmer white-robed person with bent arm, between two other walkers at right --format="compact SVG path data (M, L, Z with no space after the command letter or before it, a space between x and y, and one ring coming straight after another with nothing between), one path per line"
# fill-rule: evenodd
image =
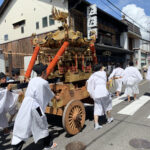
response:
M115 80L116 85L116 96L118 97L122 90L122 77L123 77L124 69L121 68L121 65L119 63L116 64L116 68L113 70L113 72L109 76L109 80Z

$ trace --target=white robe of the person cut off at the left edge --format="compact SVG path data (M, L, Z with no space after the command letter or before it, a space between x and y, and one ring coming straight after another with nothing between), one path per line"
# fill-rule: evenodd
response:
M16 103L18 100L18 94L8 91L7 89L0 89L0 127L8 127L7 113L13 115Z

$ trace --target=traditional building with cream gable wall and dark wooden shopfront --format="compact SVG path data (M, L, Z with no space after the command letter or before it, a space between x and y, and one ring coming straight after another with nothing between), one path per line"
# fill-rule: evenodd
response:
M33 33L43 39L48 32L62 25L52 18L53 6L69 12L70 27L87 37L87 7L90 5L86 0L5 0L0 8L0 48L5 57L6 72L11 74L12 68L20 68L24 73L29 63L27 58L33 53ZM119 62L126 66L137 47L131 44L128 24L99 8L97 18L95 47L98 62L104 65Z

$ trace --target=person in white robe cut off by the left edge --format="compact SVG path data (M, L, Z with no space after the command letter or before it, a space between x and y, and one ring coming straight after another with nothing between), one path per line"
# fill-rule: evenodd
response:
M6 75L0 73L0 84L6 83ZM8 130L8 119L6 114L10 114L10 118L15 115L15 107L18 100L19 94L11 92L11 85L6 88L0 88L0 127L3 128L4 134L9 134Z

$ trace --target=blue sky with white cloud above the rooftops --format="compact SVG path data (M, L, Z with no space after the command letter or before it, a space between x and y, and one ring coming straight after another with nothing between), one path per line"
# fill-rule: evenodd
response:
M0 5L4 0L0 0ZM113 7L107 0L87 0L92 4L96 4L97 7L111 14L112 16L121 19L121 12ZM143 28L141 29L142 37L150 40L150 0L109 0L125 14L130 16L135 22L140 24ZM112 10L113 9L113 10ZM126 17L129 21L129 18ZM133 22L132 22L133 23ZM135 23L135 25L137 25ZM138 26L138 25L137 25Z

